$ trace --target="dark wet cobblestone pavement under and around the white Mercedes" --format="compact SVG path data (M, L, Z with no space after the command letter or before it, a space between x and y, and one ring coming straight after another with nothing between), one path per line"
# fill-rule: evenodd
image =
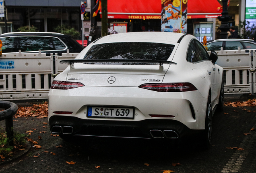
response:
M245 109L256 111L255 107ZM175 173L256 172L256 132L250 131L256 129L256 113L248 113L241 107L224 107L223 112L215 113L212 144L206 150L201 149L193 137L174 144L108 138L66 142L60 137L51 136L49 127L43 127L47 126L43 124L47 118L14 120L14 131L25 133L32 130L31 138L34 141L41 136L42 139L37 141L41 149L32 147L19 159L0 165L0 172L4 173L163 173L163 170L173 170ZM4 121L0 122L0 127L4 128ZM75 164L66 163L71 161ZM172 163L181 165L174 167Z

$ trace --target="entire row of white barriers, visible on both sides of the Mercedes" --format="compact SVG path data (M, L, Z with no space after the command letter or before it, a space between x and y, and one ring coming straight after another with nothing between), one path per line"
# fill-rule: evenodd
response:
M256 50L216 51L224 69L225 94L256 93ZM62 56L45 53L2 54L0 56L0 100L47 99L55 75L66 69L60 60L74 59L78 53Z

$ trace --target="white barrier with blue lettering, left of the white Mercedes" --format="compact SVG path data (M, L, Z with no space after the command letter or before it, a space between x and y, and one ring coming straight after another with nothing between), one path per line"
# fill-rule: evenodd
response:
M67 67L67 64L60 64L59 61L74 59L77 55L63 53L62 56L46 56L40 52L2 54L0 100L47 99L54 74L59 74Z

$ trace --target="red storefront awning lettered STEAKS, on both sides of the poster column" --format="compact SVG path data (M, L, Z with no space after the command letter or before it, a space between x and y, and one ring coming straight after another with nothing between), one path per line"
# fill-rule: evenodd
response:
M221 15L217 0L188 0L189 18L215 18ZM107 0L108 18L161 19L161 0Z

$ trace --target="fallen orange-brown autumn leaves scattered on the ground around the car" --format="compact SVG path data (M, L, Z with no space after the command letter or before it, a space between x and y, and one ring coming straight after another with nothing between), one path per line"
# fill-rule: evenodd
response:
M224 104L224 106L228 106L228 107L242 107L242 110L243 111L246 111L248 113L253 113L255 111L251 111L249 110L250 108L248 107L255 107L256 106L256 99L252 99L252 100L248 100L248 101L239 101L239 102L227 102ZM245 107L247 109L245 109ZM225 113L223 112L224 114L228 115L228 113ZM14 115L14 120L13 121L17 121L16 119L19 118L19 117L36 117L38 119L41 119L41 118L45 118L48 116L48 103L47 102L44 102L42 104L34 104L33 106L31 107L19 107L17 113ZM43 126L44 127L47 127L47 123L43 123ZM255 129L251 129L250 131L255 131ZM33 129L30 130L30 131L25 131L25 133L27 133L27 135L30 135L30 133L33 132ZM40 133L45 133L44 131L41 131ZM250 135L250 133L245 133L244 135ZM52 135L52 136L58 136L58 135ZM41 136L38 136L38 139L37 141L40 141L41 140ZM33 139L31 138L27 138L27 141L33 143L33 148L34 149L40 149L41 146L37 143L37 141L33 141ZM21 147L21 146L20 146ZM56 146L56 147L62 147L61 145L60 146ZM24 148L24 147L23 147ZM23 149L21 147L21 149ZM243 150L242 148L238 148L238 147L228 147L227 149L236 149L236 150ZM48 152L48 151L43 151L43 152ZM52 155L55 155L55 153L50 153ZM37 155L34 155L33 157L38 157L38 154ZM3 159L3 158L2 158ZM4 160L4 159L3 159ZM72 164L74 165L75 162L73 161L66 161L67 164ZM148 163L145 163L144 164L145 166L150 166ZM172 163L172 166L175 167L175 166L180 166L182 164L180 163ZM96 169L100 169L100 165L98 166L95 166ZM163 173L171 173L171 172L174 172L174 171L171 171L171 170L161 170L163 171Z

